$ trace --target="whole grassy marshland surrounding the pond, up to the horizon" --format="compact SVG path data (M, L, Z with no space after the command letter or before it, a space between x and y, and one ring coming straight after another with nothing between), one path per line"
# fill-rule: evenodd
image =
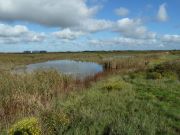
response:
M101 64L84 80L17 67L70 59ZM1 135L179 135L180 51L0 54Z

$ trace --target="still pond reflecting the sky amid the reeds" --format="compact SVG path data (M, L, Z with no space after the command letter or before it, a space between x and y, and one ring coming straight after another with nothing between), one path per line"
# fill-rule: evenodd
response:
M72 75L75 78L85 78L94 76L103 71L103 66L94 62L81 62L73 60L53 60L42 63L26 65L24 69L18 69L18 72L31 73L36 70L57 70L58 72Z

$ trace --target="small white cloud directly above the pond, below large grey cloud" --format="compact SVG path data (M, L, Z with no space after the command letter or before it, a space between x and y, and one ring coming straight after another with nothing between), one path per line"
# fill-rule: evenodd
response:
M53 35L55 35L57 38L60 39L67 39L67 40L74 40L82 35L84 35L85 33L82 31L73 31L69 28L63 29L61 31L58 32L54 32Z

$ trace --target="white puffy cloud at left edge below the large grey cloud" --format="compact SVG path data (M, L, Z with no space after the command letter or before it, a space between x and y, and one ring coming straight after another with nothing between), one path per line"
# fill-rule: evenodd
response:
M26 26L16 25L10 26L0 24L0 43L20 43L20 42L41 42L45 39L44 33L37 33L28 30Z

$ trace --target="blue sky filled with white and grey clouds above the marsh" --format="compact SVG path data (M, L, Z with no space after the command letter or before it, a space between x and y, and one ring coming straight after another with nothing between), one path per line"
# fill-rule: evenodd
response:
M180 49L180 0L0 0L0 52Z

